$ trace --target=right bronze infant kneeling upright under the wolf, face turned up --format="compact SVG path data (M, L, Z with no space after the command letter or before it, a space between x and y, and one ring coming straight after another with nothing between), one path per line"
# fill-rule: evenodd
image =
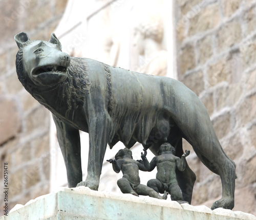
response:
M147 186L154 189L156 192L164 193L168 191L172 200L183 201L182 191L178 185L176 168L179 171L184 171L186 167L185 158L190 151L186 150L181 158L175 156L175 148L169 143L163 143L159 149L159 156L156 156L150 162L150 169L152 171L157 167L156 179L149 180Z

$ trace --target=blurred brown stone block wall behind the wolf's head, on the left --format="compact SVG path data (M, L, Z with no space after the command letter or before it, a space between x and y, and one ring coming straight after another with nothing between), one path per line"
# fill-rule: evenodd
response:
M49 193L49 111L18 81L13 39L26 31L48 40L65 10L62 0L10 0L0 3L0 182L8 163L8 208ZM1 190L3 190L2 185ZM3 193L2 193L3 194ZM1 195L0 216L4 199Z

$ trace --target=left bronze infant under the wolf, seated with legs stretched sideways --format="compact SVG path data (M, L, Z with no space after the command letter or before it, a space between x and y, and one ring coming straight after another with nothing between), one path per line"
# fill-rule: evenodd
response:
M142 161L133 160L132 151L128 148L117 152L115 159L107 160L112 163L115 172L123 173L123 178L117 181L117 185L122 193L131 193L133 195L149 195L157 199L167 199L167 194L159 195L154 189L140 184L139 170L148 171L150 163L146 159L146 150L141 153Z

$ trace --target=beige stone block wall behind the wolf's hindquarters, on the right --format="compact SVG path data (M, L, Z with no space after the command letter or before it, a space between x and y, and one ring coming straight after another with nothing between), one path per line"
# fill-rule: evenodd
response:
M199 95L237 164L233 210L256 214L256 1L176 0L175 17L179 80ZM210 207L220 178L188 160L197 174L192 204Z

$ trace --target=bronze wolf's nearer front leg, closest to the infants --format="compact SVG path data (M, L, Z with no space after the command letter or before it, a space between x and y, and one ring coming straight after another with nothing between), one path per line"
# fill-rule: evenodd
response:
M109 138L110 118L108 113L91 114L89 120L89 156L86 181L77 186L88 186L92 190L98 190L106 145Z

